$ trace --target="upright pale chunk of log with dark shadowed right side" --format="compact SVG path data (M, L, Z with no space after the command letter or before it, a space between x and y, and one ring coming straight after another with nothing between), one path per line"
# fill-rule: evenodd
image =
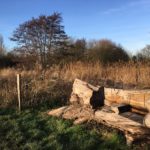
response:
M71 104L81 104L92 108L104 105L104 87L95 87L91 84L76 79L70 98Z

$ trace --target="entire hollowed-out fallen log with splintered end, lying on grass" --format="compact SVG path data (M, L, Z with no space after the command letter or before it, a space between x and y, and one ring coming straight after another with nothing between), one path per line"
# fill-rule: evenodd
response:
M74 124L96 120L99 123L123 131L127 144L139 139L150 140L150 129L145 127L150 128L150 114L148 113L150 111L149 90L95 87L76 79L73 84L70 103L70 106L52 110L48 114L74 120ZM104 106L104 103L108 106ZM113 106L113 103L117 103L117 105ZM103 106L103 108L99 108L96 111L95 108L100 106ZM132 107L131 109L135 108L144 113L146 112L146 117L126 112L130 110L130 106ZM112 110L116 113L113 113ZM117 113L121 113L121 115ZM143 120L145 126L143 125Z

